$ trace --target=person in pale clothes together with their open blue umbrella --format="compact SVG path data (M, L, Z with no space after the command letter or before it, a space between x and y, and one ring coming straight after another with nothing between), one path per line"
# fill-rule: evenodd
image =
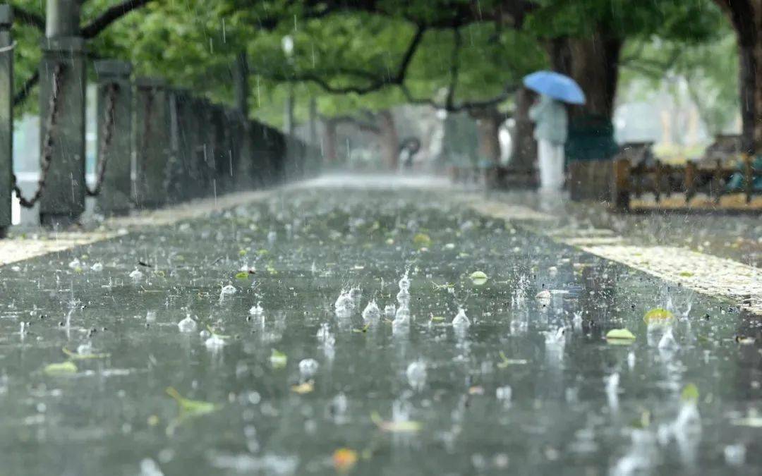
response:
M529 111L535 123L540 190L561 190L568 135L568 116L563 103L584 104L584 93L573 79L551 71L534 72L523 79L523 84L540 94L539 101Z

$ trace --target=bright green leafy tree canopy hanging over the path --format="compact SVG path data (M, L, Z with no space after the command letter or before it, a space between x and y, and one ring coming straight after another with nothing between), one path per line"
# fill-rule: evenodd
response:
M86 0L82 24L115 1ZM43 15L40 0L13 3ZM717 104L729 104L736 97L724 84L716 87L722 71L732 69L725 63L735 61L735 55L706 54L715 47L725 51L731 43L727 21L712 0L538 0L525 4L536 8L517 28L510 20L494 21L504 2L478 4L479 14L470 0L155 0L91 39L88 52L92 57L128 60L136 75L159 76L170 85L203 91L213 101L226 103L232 101L235 58L246 52L252 73L249 104L256 117L275 125L282 122L289 94L296 98L297 120L307 117L310 97L328 117L408 102L399 87L403 76L408 94L422 101L451 107L488 101L516 88L528 72L548 66L546 39L582 37L600 29L628 40L628 50L642 43L643 51L655 56L663 53L654 38L675 48L719 39L722 47L708 45L707 50L682 56L680 71L696 79L696 94L715 88ZM421 25L424 34L402 71ZM18 22L13 33L18 41L18 91L37 70L42 33ZM285 37L293 40L291 53L284 51ZM701 64L703 56L712 56L716 64ZM27 99L26 110L37 107L36 96ZM705 116L716 116L709 122L725 120L720 108L708 108Z

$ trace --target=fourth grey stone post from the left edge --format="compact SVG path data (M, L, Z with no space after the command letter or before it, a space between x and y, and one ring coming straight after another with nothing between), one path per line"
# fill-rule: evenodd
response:
M156 208L167 201L171 153L168 93L164 82L139 78L135 107L135 203L139 208Z

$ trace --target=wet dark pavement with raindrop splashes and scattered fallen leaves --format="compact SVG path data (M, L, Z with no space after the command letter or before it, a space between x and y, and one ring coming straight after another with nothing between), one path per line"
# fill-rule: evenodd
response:
M518 225L316 187L0 267L3 471L757 474L757 318Z

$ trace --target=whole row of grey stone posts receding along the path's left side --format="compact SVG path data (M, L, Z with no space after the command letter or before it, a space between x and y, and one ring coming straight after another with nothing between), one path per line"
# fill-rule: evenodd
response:
M11 8L0 5L0 238L11 225L12 194L21 206L39 207L43 225L55 225L76 222L85 196L94 196L98 212L120 215L319 172L320 152L298 138L165 81L133 81L129 63L101 60L94 63L98 166L88 187L88 63L82 38L65 37L43 42L41 172L36 191L24 197L12 174L11 24Z

